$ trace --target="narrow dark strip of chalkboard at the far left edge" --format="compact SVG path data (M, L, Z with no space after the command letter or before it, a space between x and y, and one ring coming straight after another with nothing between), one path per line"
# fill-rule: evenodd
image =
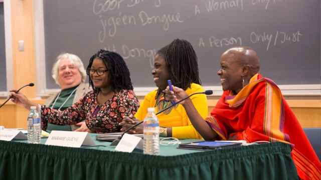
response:
M0 91L7 91L4 2L0 2Z

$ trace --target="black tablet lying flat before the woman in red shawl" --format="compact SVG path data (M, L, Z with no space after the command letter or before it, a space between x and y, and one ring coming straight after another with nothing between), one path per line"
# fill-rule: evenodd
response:
M241 145L241 142L221 142L221 141L199 141L191 143L179 144L178 148L194 149L194 150L211 150L225 147L234 147Z

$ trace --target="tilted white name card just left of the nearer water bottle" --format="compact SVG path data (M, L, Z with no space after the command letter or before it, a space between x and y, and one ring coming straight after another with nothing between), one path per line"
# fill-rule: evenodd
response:
M142 138L125 133L120 139L118 145L115 147L115 150L122 152L132 152L136 146L142 149L142 145Z

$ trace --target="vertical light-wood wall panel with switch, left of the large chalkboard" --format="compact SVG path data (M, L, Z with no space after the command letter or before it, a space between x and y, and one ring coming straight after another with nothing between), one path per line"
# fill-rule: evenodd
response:
M11 0L13 75L14 88L36 82L33 0ZM19 51L19 40L24 40L24 51ZM36 88L23 91L28 97L36 97Z

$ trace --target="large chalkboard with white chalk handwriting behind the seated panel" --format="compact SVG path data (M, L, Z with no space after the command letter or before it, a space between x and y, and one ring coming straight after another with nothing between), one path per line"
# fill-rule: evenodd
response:
M221 54L254 48L277 84L320 84L320 0L44 0L46 86L60 52L87 66L100 48L122 55L134 87L155 87L155 52L189 40L205 86L219 86Z

